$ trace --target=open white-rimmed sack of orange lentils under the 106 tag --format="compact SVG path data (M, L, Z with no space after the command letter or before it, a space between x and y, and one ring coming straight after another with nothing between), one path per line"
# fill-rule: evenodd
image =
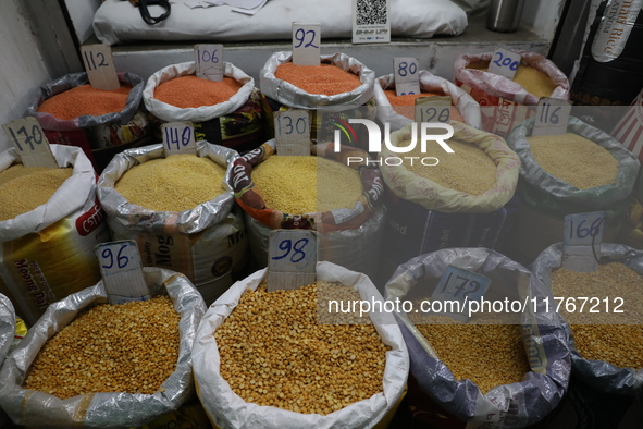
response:
M222 82L199 78L194 61L168 65L147 81L143 100L157 126L189 121L197 140L238 152L254 149L263 143L261 94L252 77L230 62L223 75Z

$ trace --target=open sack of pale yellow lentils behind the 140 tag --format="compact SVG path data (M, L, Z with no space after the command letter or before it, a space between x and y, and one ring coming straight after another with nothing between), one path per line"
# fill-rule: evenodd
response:
M144 266L183 272L209 305L248 261L244 220L224 182L238 155L208 142L196 157L164 154L158 144L116 155L98 198L113 240L136 241Z

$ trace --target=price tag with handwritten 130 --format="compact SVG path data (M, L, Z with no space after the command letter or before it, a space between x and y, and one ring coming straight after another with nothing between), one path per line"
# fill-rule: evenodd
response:
M281 156L310 156L310 113L289 109L274 114L276 152Z

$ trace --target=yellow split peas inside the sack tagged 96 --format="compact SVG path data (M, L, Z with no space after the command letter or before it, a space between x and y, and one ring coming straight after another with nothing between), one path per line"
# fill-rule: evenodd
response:
M24 388L62 400L91 392L151 394L176 368L178 321L166 296L95 306L45 343Z

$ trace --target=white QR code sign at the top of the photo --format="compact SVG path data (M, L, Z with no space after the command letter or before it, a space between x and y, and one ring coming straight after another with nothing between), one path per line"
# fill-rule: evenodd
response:
M353 0L353 42L391 42L391 0Z

